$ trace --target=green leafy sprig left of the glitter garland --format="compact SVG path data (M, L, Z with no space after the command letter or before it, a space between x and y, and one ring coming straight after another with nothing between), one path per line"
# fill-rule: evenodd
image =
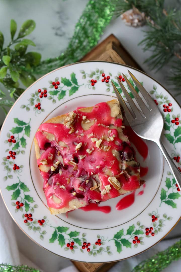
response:
M7 47L4 46L4 35L0 31L0 82L9 90L9 96L15 100L24 91L20 88L20 82L28 87L35 80L33 73L24 71L23 67L31 69L40 63L41 55L37 52L26 52L28 45L36 46L30 39L24 39L35 28L33 20L25 21L15 37L17 32L17 23L11 20L10 33L11 42ZM6 99L5 93L0 89L0 106L7 113L6 106L11 107L13 101Z

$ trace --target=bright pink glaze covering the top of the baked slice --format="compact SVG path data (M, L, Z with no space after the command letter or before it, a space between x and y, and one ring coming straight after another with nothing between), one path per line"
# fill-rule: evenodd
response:
M116 159L116 157L113 156L112 150L115 149L120 152L125 151L126 153L133 153L129 142L122 144L122 140L120 140L118 137L118 131L114 128L111 129L111 133L109 135L109 137L115 135L114 141L102 140L103 145L111 146L109 151L104 152L103 149L96 147L95 142L93 143L91 141L91 137L101 139L103 135L108 135L108 131L110 129L106 126L109 126L110 124L115 126L122 125L122 119L116 119L110 116L110 107L107 103L103 102L97 104L96 107L93 107L93 110L90 113L81 112L78 109L74 112L77 114L77 116L74 122L75 131L72 134L68 133L70 130L69 128L60 123L43 123L40 125L39 131L36 133L36 139L40 147L40 154L42 154L40 159L37 160L38 165L42 165L40 162L42 159L47 159L48 166L52 166L53 163L61 160L59 158L60 155L63 158L64 166L60 163L62 174L59 174L59 171L56 174L55 172L53 173L51 171L40 171L42 177L44 178L43 190L45 191L47 204L49 207L55 209L68 206L69 201L75 199L76 197L78 197L80 201L82 199L82 201L89 204L90 201L105 201L107 199L119 196L120 194L118 190L110 185L108 181L109 176L105 175L102 169L110 169L113 176L119 175L119 161ZM86 116L87 119L94 120L95 122L94 125L92 125L87 131L82 129L82 116ZM129 133L131 133L129 129L127 130ZM75 133L76 131L78 131L78 133ZM55 139L51 142L47 140L45 132L53 134ZM88 135L91 133L94 135L88 137ZM139 139L140 138L138 137L136 142L144 144L144 142ZM58 145L59 141L63 141L67 144L68 147L61 148ZM78 143L82 143L82 146L80 150L77 150L76 152L75 147ZM91 154L88 154L86 149L92 148L94 148L94 151ZM138 149L142 156L145 157L146 152L144 152L141 147ZM86 157L84 159L79 159L79 155L86 155ZM71 160L75 160L75 157L78 159L78 169L73 170L74 166L69 165L68 163ZM100 166L100 168L96 168L96 166ZM134 169L132 169L132 171L135 172L135 175L132 176L126 176L125 174L119 175L118 180L122 184L123 190L132 191L140 187L139 179L136 176L139 176L138 169L139 167L134 167ZM106 185L111 186L109 193L102 195L99 191L91 191L90 187L87 186L85 180L88 180L92 175L95 174L99 175L101 190L103 190ZM81 179L84 181L82 182ZM65 186L66 189L60 188L62 185ZM78 188L80 186L85 191L79 190ZM73 196L72 191L77 192L77 196ZM55 203L52 198L53 195L60 199L61 203Z

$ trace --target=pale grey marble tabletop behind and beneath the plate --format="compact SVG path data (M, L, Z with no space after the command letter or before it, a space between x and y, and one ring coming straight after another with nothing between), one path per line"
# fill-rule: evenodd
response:
M5 44L8 44L10 38L9 24L11 18L17 21L18 28L26 19L33 19L36 21L36 29L31 33L28 38L32 39L37 45L36 48L32 47L31 51L37 51L42 54L42 59L48 57L58 56L65 50L68 42L74 33L74 26L84 9L86 0L1 0L0 1L0 30L4 33ZM168 4L179 4L179 1L167 1ZM125 26L120 17L112 21L106 28L100 41L105 39L108 35L113 33L126 48L126 50L135 58L143 70L161 84L163 84L172 94L175 94L166 81L168 71L171 72L169 66L163 67L158 72L150 71L144 60L151 55L151 52L143 52L141 46L137 46L138 42L143 39L143 30L147 27L131 28ZM1 86L2 87L2 86ZM5 91L4 88L1 88ZM176 100L181 104L181 95L176 97ZM4 116L0 112L0 121ZM21 252L31 258L35 263L42 259L49 259L42 265L44 271L57 271L70 264L69 260L63 261L62 258L56 256L43 248L40 248L32 242L17 226L12 222L17 234L18 246ZM165 239L177 237L180 235L181 223L177 224L173 231ZM23 241L23 243L22 243ZM28 247L25 246L28 244ZM30 252L28 248L33 248ZM52 270L52 263L54 269Z

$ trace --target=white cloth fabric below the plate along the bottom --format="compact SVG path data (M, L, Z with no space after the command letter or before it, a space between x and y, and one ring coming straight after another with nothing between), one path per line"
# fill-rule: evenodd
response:
M42 272L78 272L71 261L56 256L31 241L12 220L1 197L0 206L0 263L28 265ZM179 231L179 225L170 233L173 237ZM163 240L142 254L116 263L109 272L131 272L139 262L173 245L180 238ZM173 262L164 272L180 271L180 268L181 260Z

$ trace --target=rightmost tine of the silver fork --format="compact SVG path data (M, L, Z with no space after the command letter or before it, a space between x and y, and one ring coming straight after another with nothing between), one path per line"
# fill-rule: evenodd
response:
M149 105L149 110L158 110L158 107L156 106L155 102L153 101L152 97L149 95L149 93L145 90L145 88L141 85L141 83L138 81L138 79L135 78L135 76L128 70L129 75L131 76L132 80L134 81L135 85L141 92L142 96L145 98Z

